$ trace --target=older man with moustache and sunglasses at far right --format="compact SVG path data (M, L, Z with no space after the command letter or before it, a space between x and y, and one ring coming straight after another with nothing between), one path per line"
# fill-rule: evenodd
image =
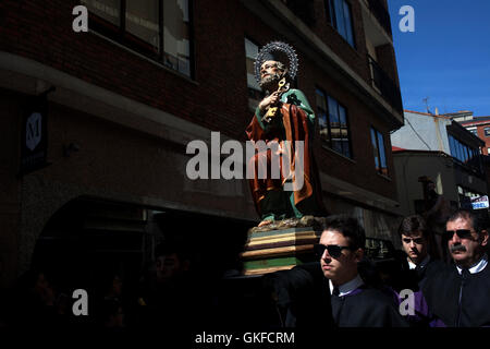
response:
M487 226L475 214L457 210L446 222L445 240L454 266L424 287L434 326L490 326L490 267Z

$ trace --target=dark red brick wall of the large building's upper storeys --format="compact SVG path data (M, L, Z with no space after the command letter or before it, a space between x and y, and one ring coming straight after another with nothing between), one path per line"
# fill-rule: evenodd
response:
M196 75L193 82L97 35L74 33L72 9L77 3L74 0L3 0L0 3L3 23L0 47L231 137L245 140L244 130L252 116L247 110L244 37L266 44L281 39L279 33L244 9L238 0L194 1ZM356 49L327 24L320 0L315 1L318 17L314 31L368 81L362 9L357 1L351 3ZM331 176L395 197L394 184L375 170L370 146L369 128L372 124L383 133L387 149L391 147L388 127L302 52L298 55L302 62L298 87L309 101L314 105L315 86L319 85L348 110L354 161L326 151L317 143L320 167ZM387 155L392 173L391 153L387 152Z

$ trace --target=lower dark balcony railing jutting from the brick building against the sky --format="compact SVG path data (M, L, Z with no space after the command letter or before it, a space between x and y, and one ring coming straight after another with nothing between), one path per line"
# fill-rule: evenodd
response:
M401 115L403 115L402 94L399 86L388 76L376 60L368 57L369 69L371 71L371 84L378 89L383 98Z

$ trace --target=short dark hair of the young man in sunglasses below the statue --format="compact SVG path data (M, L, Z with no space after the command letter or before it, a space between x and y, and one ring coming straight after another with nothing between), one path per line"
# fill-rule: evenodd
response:
M322 231L339 231L347 238L351 248L357 250L365 248L366 232L356 218L348 216L329 216L322 221Z

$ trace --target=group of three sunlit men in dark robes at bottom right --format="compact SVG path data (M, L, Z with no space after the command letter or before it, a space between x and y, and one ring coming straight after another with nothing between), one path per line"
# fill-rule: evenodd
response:
M481 327L490 325L488 231L473 212L445 222L450 263L430 255L421 216L400 226L404 257L388 277L364 257L365 232L350 217L324 220L319 262L268 275L284 324L294 327ZM392 269L393 270L393 269Z

